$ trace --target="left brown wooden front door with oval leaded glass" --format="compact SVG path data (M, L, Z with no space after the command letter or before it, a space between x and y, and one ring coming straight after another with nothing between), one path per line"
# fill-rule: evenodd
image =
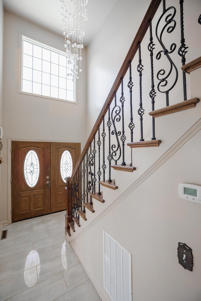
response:
M50 211L50 143L12 141L12 221Z

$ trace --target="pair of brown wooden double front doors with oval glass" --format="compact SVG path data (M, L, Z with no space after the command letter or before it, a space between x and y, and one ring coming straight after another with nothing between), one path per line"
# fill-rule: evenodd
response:
M80 143L11 144L12 222L66 209L65 177L80 156Z

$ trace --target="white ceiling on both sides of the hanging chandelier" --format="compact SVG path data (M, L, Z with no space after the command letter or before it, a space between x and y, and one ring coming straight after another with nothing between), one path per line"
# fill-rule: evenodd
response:
M89 0L84 45L89 45L117 0ZM3 0L4 9L62 35L60 0Z

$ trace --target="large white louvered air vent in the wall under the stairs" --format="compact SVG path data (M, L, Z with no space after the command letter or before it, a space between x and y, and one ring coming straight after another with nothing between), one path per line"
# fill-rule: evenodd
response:
M132 301L131 254L103 230L104 288L112 301Z

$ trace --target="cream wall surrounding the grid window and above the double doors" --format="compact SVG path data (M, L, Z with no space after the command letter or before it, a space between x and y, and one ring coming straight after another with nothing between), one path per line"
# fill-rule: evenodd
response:
M8 220L8 138L83 142L86 140L86 74L77 81L78 104L18 93L19 33L55 48L63 38L5 12L3 70L2 220ZM85 49L82 69L86 70ZM10 154L9 154L10 155Z

